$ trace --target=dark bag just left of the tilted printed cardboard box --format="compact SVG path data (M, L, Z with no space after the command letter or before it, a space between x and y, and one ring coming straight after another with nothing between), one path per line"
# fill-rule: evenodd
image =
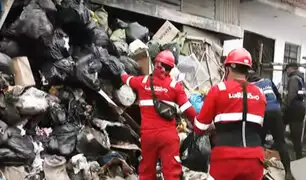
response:
M125 30L127 42L131 43L136 39L139 39L143 42L149 40L149 29L140 25L138 22L130 23L128 28Z

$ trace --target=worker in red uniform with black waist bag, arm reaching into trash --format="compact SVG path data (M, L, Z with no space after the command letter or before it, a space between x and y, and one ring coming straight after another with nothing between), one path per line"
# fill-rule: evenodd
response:
M181 82L176 82L169 75L174 67L174 55L171 51L160 52L155 58L153 87L158 100L175 106L184 112L190 120L196 116L185 94ZM135 89L139 97L141 112L141 150L142 159L139 166L140 180L156 179L156 163L161 159L162 172L165 180L179 180L182 176L180 163L175 160L179 155L179 136L175 118L165 120L153 106L149 76L131 76L123 73L122 81Z

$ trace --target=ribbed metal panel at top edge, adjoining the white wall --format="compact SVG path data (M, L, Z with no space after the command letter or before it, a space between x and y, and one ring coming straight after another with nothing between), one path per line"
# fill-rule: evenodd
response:
M239 25L239 0L216 0L216 20Z

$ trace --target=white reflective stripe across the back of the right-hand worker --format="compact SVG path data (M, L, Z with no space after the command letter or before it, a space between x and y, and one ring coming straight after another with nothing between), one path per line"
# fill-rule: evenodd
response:
M223 113L218 114L215 117L215 123L220 121L241 121L242 120L242 113ZM263 117L254 115L254 114L247 114L247 121L253 122L262 125L263 124Z

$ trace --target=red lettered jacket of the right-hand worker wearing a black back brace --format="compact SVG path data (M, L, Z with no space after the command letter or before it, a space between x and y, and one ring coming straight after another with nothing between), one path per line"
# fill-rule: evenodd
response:
M266 99L262 91L253 84L247 86L248 114L247 122L263 125ZM204 105L194 121L195 133L205 133L213 122L227 124L242 120L243 93L240 83L226 81L215 85L208 92ZM218 129L217 129L218 131ZM218 136L218 134L217 134ZM226 158L260 158L263 160L264 151L258 147L217 146L212 150L213 159Z

